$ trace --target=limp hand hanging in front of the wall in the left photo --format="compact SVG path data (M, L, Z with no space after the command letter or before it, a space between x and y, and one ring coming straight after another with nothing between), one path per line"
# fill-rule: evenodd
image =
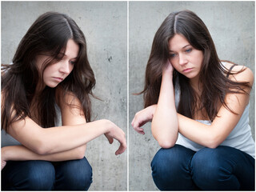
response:
M109 122L110 129L109 131L105 134L106 138L112 144L114 142L114 139L118 140L120 143L120 146L118 150L115 152L116 155L122 154L126 148L126 134L123 132L122 129L120 129L118 126L116 126L113 122Z

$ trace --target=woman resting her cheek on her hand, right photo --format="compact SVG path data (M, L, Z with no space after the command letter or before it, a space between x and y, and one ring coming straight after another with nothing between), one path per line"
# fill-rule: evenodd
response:
M154 36L142 91L162 149L151 162L159 190L254 190L254 140L245 66L221 62L205 24L189 10L170 14Z

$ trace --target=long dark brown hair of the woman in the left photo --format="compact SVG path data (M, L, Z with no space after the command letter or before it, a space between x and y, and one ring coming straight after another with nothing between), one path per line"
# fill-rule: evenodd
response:
M86 53L86 38L72 18L66 14L47 12L38 17L30 26L18 45L13 63L2 65L2 129L7 130L12 122L30 117L30 106L36 93L36 86L43 71L60 61L68 40L73 39L79 46L74 69L56 88L46 86L38 94L37 110L41 126L55 126L57 112L55 97L62 90L62 99L68 93L74 94L81 102L86 121L90 122L90 95L95 86L94 72ZM35 58L39 54L50 56L43 63L38 74ZM41 79L42 81L42 79ZM71 104L70 104L71 105Z

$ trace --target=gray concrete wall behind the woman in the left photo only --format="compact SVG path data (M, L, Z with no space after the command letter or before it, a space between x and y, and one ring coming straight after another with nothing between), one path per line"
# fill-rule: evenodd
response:
M86 36L96 77L95 119L106 118L126 132L127 2L2 2L2 63L10 63L21 38L40 14L70 15ZM115 156L105 136L89 142L86 158L93 167L90 190L127 190L127 153Z

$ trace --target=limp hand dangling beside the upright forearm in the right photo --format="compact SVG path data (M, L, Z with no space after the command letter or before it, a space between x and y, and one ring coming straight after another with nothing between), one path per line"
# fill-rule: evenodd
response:
M145 134L141 126L144 126L146 122L150 122L152 120L156 106L157 105L148 106L144 110L140 110L135 114L131 125L139 134Z

